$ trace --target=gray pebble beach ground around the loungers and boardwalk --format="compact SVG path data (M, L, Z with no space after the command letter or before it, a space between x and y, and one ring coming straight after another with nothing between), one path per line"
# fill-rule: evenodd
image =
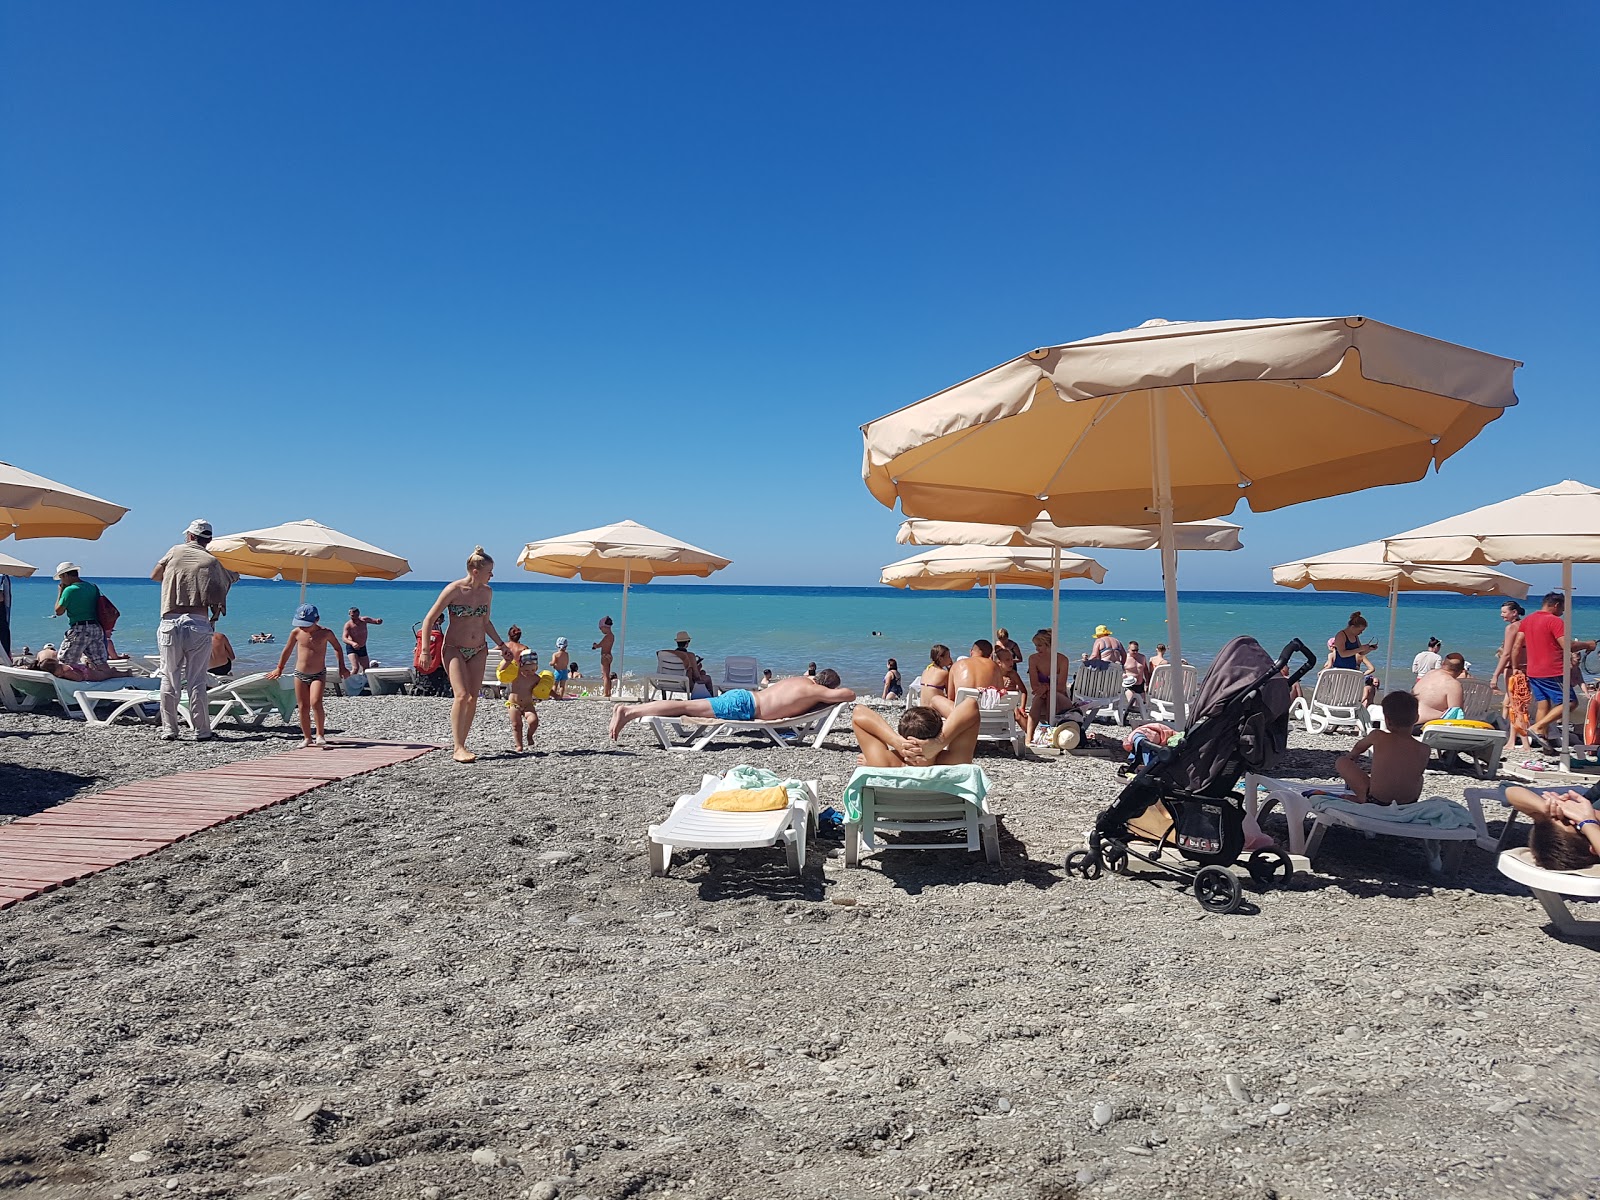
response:
M331 701L446 739L445 701ZM982 752L1003 861L813 843L646 875L645 826L739 762L837 798L821 750L686 757L485 702L430 754L0 912L0 1195L1592 1197L1600 947L1491 856L1434 882L1334 830L1208 917L1064 878L1114 762ZM0 821L286 749L0 714ZM1294 736L1328 779L1349 739ZM1434 773L1429 792L1474 781ZM1282 821L1269 824L1282 835Z

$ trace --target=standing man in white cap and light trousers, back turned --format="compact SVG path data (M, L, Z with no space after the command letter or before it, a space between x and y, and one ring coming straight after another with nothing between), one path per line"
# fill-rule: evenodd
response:
M211 622L227 611L227 589L237 576L206 549L211 522L192 520L181 546L174 546L150 571L162 584L162 624L155 640L162 650L162 741L178 736L178 691L189 693L195 741L211 733L206 704L206 667L211 666Z

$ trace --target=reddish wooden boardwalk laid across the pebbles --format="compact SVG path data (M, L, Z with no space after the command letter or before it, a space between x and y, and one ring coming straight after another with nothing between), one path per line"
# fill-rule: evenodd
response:
M435 746L342 742L94 792L0 826L0 909Z

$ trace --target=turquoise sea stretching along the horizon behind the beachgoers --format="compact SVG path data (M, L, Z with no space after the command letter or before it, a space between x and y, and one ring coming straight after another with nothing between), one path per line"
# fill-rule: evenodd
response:
M117 646L155 653L158 587L149 579L96 579L122 610ZM51 579L16 579L11 613L13 646L38 648L59 642L64 622L51 616L56 584ZM408 664L414 645L411 626L427 613L442 582L362 582L349 587L314 586L307 600L322 610L323 624L341 629L350 605L382 626L371 632L373 656ZM621 614L621 587L563 582L496 582L494 621L504 634L510 624L523 640L547 658L557 637L566 637L574 659L598 674L598 658L589 650L598 637L595 624L605 614ZM1184 592L1184 658L1205 666L1235 634L1256 637L1277 653L1291 637L1312 650L1344 626L1350 610L1371 622L1370 640L1382 646L1389 629L1387 605L1376 597L1338 592ZM277 661L299 600L299 584L242 579L229 597L224 629L240 653L243 667ZM1437 635L1446 650L1459 650L1480 670L1493 667L1501 638L1499 598L1408 595L1400 598L1395 661L1411 658ZM1594 634L1600 600L1578 602L1578 634ZM648 584L629 592L627 669L643 675L654 667L651 651L672 645L672 634L686 629L693 648L720 674L726 654L754 654L774 675L795 675L806 662L832 666L845 683L878 691L883 664L899 659L907 675L928 661L928 646L944 642L957 653L976 637L989 635L989 595L973 592L901 592L891 587L723 587L717 584ZM1104 622L1118 637L1138 640L1146 651L1165 642L1165 605L1160 592L1067 589L1061 592L1064 651L1077 658ZM1040 589L1000 589L1000 624L1030 650L1029 635L1050 626L1050 594ZM250 634L277 634L274 646L246 645ZM875 632L874 632L875 630ZM1373 656L1378 666L1382 651ZM1398 675L1397 675L1398 682Z

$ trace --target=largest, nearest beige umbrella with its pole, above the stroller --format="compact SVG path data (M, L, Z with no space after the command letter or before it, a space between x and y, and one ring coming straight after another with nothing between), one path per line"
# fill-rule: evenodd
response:
M1154 517L1178 661L1173 522L1418 480L1517 403L1518 365L1365 317L1149 322L1030 350L862 426L861 474L907 517Z

